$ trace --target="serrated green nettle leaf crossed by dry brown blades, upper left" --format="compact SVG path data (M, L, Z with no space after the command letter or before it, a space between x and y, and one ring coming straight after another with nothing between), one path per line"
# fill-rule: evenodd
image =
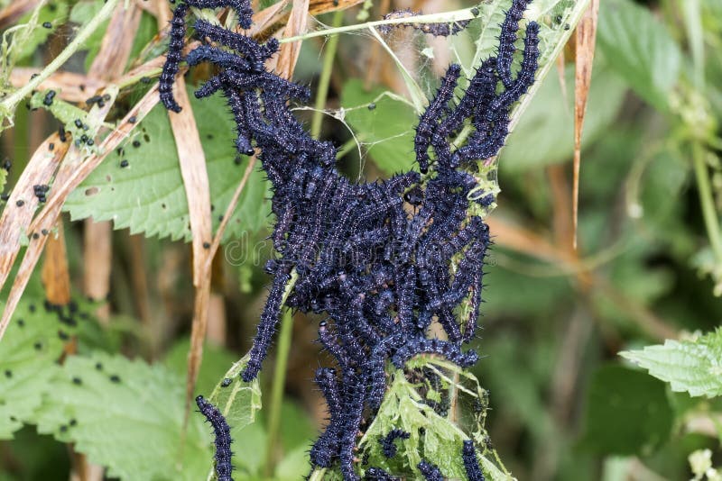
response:
M202 102L193 95L190 98L206 155L216 229L218 216L225 212L248 159L235 162L236 134L223 98L215 95ZM127 161L125 168L121 167L123 160ZM228 222L225 241L265 225L270 212L267 192L264 174L255 168ZM69 195L65 209L73 220L112 220L116 229L190 241L188 202L171 123L162 105L153 108L128 141Z

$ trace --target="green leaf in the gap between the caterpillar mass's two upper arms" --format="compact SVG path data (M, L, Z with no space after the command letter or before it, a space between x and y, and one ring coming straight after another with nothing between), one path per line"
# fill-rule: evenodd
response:
M369 104L375 104L375 108L369 110ZM358 141L367 145L378 168L391 175L415 166L412 127L419 118L412 106L387 95L382 88L366 91L363 81L357 78L344 85L341 105L347 123Z

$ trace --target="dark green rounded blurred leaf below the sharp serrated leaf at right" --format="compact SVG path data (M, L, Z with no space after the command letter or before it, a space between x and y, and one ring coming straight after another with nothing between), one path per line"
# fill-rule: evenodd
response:
M589 386L582 444L602 454L649 454L669 439L673 420L663 383L606 365Z

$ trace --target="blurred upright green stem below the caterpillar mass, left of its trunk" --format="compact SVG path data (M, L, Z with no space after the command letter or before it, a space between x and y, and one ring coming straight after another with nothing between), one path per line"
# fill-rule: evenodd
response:
M273 387L271 391L271 407L268 414L268 440L265 454L265 476L273 474L275 448L278 440L278 428L281 423L281 406L283 402L283 388L286 384L286 368L288 368L288 354L291 350L293 332L293 316L291 309L286 309L281 321L281 334L278 339L278 352L276 365L273 369Z

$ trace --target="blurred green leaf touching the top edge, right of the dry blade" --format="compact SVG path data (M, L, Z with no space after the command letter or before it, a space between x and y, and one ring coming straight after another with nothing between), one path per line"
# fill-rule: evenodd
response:
M597 44L637 95L657 109L668 109L680 76L680 47L649 9L629 0L602 2ZM588 112L593 112L591 106Z

